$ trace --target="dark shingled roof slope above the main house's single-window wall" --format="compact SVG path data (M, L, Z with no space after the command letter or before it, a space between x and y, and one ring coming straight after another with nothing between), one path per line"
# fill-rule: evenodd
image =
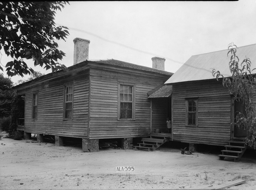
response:
M170 75L170 76L173 74L173 73L170 73L170 72L167 72L167 71L154 69L154 68L141 66L141 65L136 65L136 64L133 64L133 63L128 63L128 62L125 62L125 61L119 61L119 60L115 60L115 59L88 60L88 61L97 62L97 63L104 63L104 64L114 65L114 66L121 66L121 67L126 67L126 68L131 68L131 69L138 69L138 70L149 71L149 72L155 72L155 73Z

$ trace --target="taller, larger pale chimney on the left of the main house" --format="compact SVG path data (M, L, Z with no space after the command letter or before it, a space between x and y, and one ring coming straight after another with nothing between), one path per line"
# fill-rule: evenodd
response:
M75 38L74 42L74 65L89 59L90 40Z

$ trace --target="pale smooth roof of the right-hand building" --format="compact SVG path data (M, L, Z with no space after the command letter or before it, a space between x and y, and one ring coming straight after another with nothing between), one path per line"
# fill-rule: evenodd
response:
M231 73L228 63L231 54L227 56L227 53L228 50L221 50L193 55L165 82L165 84L214 79L212 68L215 68L217 71L219 70L224 77L229 77ZM251 68L256 68L256 44L238 47L236 55L240 59L239 63L242 63L245 58L250 58L252 62Z

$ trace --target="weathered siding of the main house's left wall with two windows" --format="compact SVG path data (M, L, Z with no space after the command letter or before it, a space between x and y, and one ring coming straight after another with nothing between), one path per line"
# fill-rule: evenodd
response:
M83 78L83 77L81 77ZM69 78L70 82L73 78ZM63 120L63 98L65 84L55 82L47 88L38 90L38 116L32 116L32 94L26 93L25 131L59 135L66 137L86 138L88 130L89 78L74 81L73 119Z

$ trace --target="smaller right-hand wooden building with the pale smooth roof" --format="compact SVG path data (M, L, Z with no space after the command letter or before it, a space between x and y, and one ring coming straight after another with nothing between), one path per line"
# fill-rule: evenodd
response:
M225 146L247 133L230 125L243 106L212 76L212 68L230 76L227 50L194 55L170 77L172 85L172 140L190 144ZM256 67L256 44L237 49L242 62L250 58ZM256 100L256 98L255 98ZM256 103L256 102L255 102Z

